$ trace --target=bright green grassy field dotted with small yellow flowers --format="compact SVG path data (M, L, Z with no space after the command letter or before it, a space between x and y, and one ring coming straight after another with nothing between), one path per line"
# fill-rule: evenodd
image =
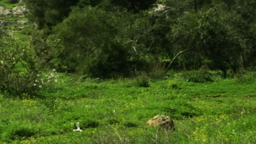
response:
M150 80L100 80L59 74L37 96L0 95L0 142L21 144L255 144L256 82L178 74ZM146 128L158 114L176 131ZM73 132L79 122L82 132Z

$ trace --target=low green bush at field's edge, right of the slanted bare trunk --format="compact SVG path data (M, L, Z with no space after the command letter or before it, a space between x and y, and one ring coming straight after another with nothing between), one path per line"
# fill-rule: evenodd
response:
M181 75L189 82L206 83L213 82L213 75L208 71L208 67L203 66L197 71L183 72Z

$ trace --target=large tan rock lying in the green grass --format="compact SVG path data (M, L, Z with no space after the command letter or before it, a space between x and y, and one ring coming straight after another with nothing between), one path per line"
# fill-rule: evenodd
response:
M169 116L157 115L147 121L147 127L162 127L170 130L175 130L174 122Z

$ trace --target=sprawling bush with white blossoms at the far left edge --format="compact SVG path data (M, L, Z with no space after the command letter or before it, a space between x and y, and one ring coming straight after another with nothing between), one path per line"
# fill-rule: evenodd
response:
M0 45L0 92L20 95L37 91L39 87L35 80L38 79L40 69L47 63L47 59L50 59L46 46L20 47L4 33Z

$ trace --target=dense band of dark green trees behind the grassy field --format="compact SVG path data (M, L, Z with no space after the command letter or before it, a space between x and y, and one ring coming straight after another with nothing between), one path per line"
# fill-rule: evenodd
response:
M255 69L256 13L242 0L24 0L35 22L37 40L27 64L47 61L56 69L87 77L129 77L144 71L152 78L164 70ZM5 40L5 38L2 38ZM3 58L6 56L3 50ZM31 51L29 51L31 53ZM9 51L8 51L9 53ZM36 58L36 59L35 59ZM5 69L18 67L13 59ZM13 64L13 65L12 65ZM38 70L41 72L41 70ZM155 71L155 72L154 72ZM6 72L7 75L13 71ZM5 89L5 88L2 88ZM3 90L2 90L3 91Z

